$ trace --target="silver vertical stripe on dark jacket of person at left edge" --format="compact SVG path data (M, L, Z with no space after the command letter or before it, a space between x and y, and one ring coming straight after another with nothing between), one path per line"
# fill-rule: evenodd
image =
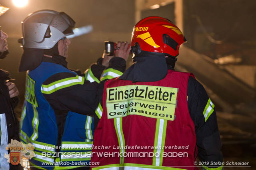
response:
M4 158L4 154L8 154L6 147L8 146L8 131L5 113L0 114L0 132L1 132L1 144L0 144L0 169L9 170L9 163L7 159Z

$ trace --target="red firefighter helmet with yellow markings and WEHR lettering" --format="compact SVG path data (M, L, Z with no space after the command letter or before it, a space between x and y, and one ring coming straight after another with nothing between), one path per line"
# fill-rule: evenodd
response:
M148 51L176 57L184 42L186 38L179 28L170 20L158 16L140 20L132 31L132 51L135 55Z

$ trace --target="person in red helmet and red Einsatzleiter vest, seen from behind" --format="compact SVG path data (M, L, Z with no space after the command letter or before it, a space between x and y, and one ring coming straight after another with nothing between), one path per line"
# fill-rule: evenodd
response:
M196 170L197 156L222 169L211 166L223 161L214 104L192 73L174 71L184 42L165 18L134 26L133 65L105 83L96 110L92 169Z

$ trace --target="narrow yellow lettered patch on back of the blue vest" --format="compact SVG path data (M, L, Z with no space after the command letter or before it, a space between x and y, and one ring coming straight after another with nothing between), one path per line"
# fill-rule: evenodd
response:
M27 75L25 99L32 105L38 107L35 95L35 81Z

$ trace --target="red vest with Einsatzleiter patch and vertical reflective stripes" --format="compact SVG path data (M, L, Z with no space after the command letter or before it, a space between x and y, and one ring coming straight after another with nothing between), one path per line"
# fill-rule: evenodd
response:
M107 81L94 131L92 170L197 170L195 127L187 104L190 76L168 70L155 82Z

